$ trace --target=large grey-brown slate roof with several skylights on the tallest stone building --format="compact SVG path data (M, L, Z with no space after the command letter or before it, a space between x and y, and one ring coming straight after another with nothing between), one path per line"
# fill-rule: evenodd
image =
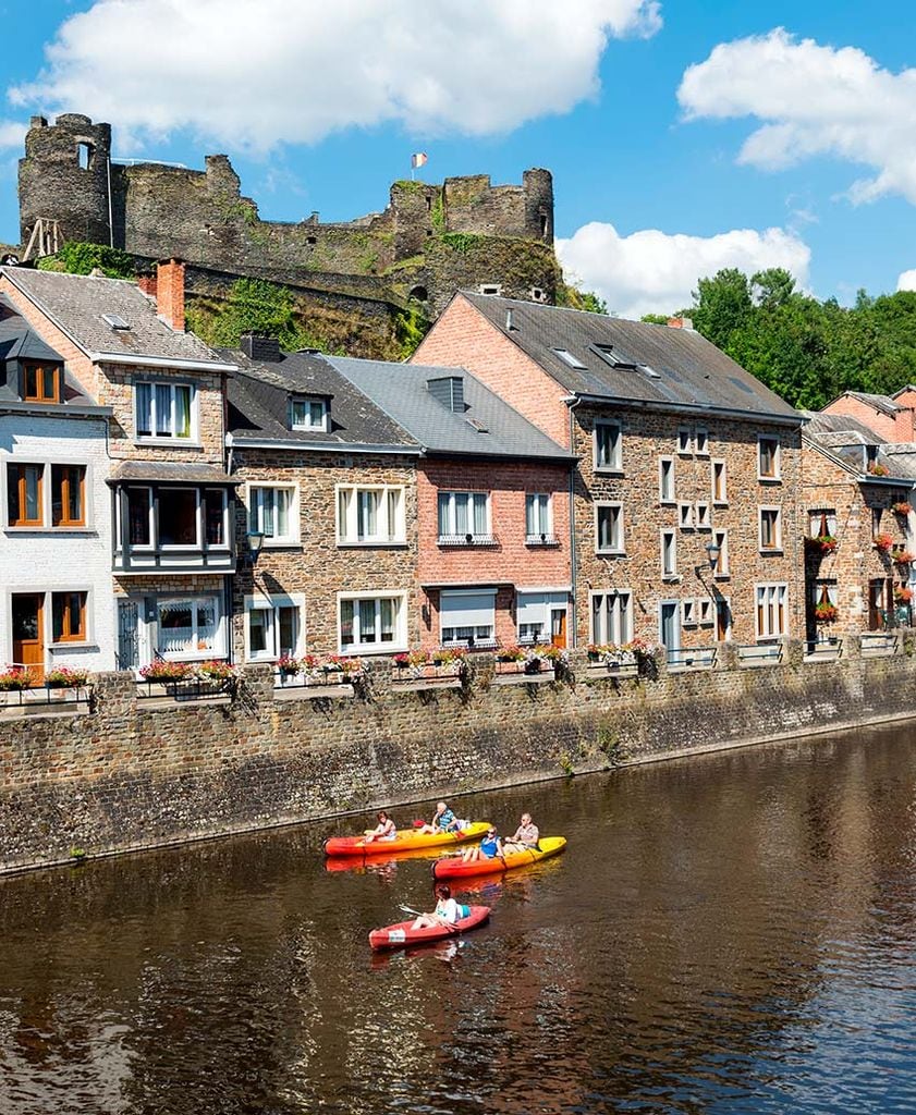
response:
M571 395L800 420L793 407L691 329L461 293ZM610 346L611 362L630 367L613 367L597 346ZM585 368L571 368L556 349L566 349Z

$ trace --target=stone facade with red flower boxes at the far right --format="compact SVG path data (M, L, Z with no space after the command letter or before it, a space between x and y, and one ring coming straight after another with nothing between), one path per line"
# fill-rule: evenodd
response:
M807 438L802 443L800 527L818 537L823 526L836 539L836 549L821 553L806 546L806 630L808 639L879 630L888 621L908 622L910 608L895 604L895 589L912 590L912 566L894 561L895 554L916 550L914 515L898 515L891 506L909 502L908 482L860 481L829 453ZM875 545L876 534L891 539L891 550ZM837 618L817 622L814 605L837 608Z

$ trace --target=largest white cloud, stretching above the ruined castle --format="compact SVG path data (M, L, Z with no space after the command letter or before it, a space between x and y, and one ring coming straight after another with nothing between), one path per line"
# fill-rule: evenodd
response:
M658 0L95 0L8 95L230 148L386 120L484 135L594 96L608 39L661 26Z

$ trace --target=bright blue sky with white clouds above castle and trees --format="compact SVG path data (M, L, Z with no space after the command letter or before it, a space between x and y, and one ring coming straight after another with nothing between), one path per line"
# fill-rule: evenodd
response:
M413 151L431 182L547 166L565 265L626 316L721 265L782 263L841 302L916 287L912 0L880 19L822 0L431 7L0 0L0 241L22 125L71 110L110 120L125 156L226 151L282 220L382 209Z

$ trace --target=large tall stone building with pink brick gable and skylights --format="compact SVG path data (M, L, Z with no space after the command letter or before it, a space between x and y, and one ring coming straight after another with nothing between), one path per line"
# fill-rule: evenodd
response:
M579 642L803 630L802 418L698 333L462 292L414 359L463 365L579 459Z

